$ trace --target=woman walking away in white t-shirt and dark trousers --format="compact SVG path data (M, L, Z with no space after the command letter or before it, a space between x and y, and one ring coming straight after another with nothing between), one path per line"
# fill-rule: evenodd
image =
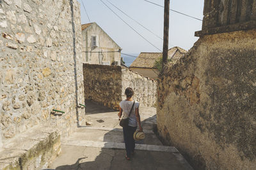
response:
M125 89L125 95L126 95L126 99L120 102L120 110L118 113L118 117L119 118L122 117L123 111L124 111L123 118L129 117L129 124L127 127L123 127L123 133L124 133L124 143L125 143L125 150L126 150L125 158L127 160L130 160L131 155L134 154L134 148L135 148L135 141L133 139L133 134L136 131L137 126L139 126L139 131L143 131L143 129L141 127L141 122L140 122L140 113L139 113L140 103L132 99L132 96L134 95L134 91L131 89L131 87L127 87L127 89ZM130 111L131 111L131 114L129 116Z

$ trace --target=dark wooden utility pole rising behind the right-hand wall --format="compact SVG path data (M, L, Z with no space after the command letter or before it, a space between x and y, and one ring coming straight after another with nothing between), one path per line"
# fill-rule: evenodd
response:
M168 57L169 11L170 11L170 0L164 0L164 43L163 43L162 70L164 68L164 65L167 62L167 57Z

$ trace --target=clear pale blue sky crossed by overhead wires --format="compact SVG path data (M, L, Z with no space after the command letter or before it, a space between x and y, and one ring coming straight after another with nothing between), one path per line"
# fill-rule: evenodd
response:
M123 50L123 53L159 52L163 50L163 40L154 36L157 34L163 38L164 8L147 3L144 0L108 0L116 7L124 11L134 20L140 22L150 31L136 24L133 20L111 6L107 0L104 3L113 9L125 22L140 32L150 43L141 38L136 32L127 26L120 18L109 10L100 0L78 0L81 4L81 23L96 22ZM90 17L90 21L84 11L83 4ZM148 0L164 6L164 0ZM203 18L204 0L170 0L170 9L186 13L196 18ZM180 15L170 11L169 48L180 46L189 50L198 39L194 36L195 31L202 29L202 21Z

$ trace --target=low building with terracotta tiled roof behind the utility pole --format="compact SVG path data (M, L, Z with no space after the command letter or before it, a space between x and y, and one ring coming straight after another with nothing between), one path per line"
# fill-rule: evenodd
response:
M168 50L168 59L172 59L172 62L179 60L187 51L175 46ZM142 74L150 78L157 78L159 71L157 70L155 63L163 57L163 53L158 52L141 52L140 55L132 62L130 69L137 73Z

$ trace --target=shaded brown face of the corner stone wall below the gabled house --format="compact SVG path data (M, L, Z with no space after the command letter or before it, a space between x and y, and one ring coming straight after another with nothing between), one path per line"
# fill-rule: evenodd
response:
M120 66L83 64L85 99L117 109L122 100L121 71Z

